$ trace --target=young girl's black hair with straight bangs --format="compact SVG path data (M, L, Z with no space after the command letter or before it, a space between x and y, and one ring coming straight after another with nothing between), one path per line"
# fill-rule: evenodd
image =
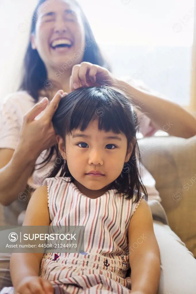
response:
M114 186L118 193L126 194L127 199L132 199L134 194L137 194L135 202L141 198L141 192L146 195L147 199L147 191L138 170L140 162L139 159L136 159L140 158L136 140L136 132L139 127L137 116L130 100L123 92L108 86L78 88L61 99L52 118L52 123L56 134L64 140L65 150L66 135L72 134L74 129L84 131L95 119L98 120L100 131L124 133L127 137L127 151L133 138L136 142L129 161L124 164L121 174L111 183L111 187ZM59 152L58 144L51 148L49 156L42 163L48 163L54 153L57 153L58 161L56 160L57 164L47 177L55 177L61 171L60 177L70 177L70 182L74 182L67 161L62 158Z

